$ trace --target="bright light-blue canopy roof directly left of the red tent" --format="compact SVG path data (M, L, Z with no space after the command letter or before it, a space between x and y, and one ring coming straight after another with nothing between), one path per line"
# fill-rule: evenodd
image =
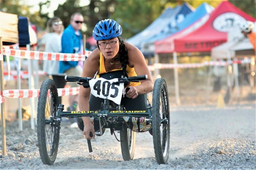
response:
M142 45L141 45L142 53L144 55L153 55L155 51L154 43L156 41L163 40L175 33L178 33L184 30L188 26L191 26L193 23L197 22L199 19L204 17L206 14L211 13L213 10L214 8L211 5L204 2L199 7L197 7L195 11L189 13L183 21L178 22L177 20L174 20L177 23L175 26L171 27L167 31L163 30L162 32L154 36L151 36L142 42Z

